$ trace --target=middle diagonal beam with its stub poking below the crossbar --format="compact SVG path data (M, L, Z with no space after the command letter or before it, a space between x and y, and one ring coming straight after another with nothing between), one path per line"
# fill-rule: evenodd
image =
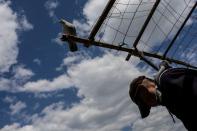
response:
M140 30L140 32L139 32L139 34L138 34L136 40L134 41L133 47L134 47L135 49L137 49L137 45L138 45L138 43L139 43L139 41L140 41L140 39L141 39L141 37L142 37L144 31L146 30L146 28L147 28L147 26L148 26L148 24L149 24L149 22L150 22L150 20L151 20L151 18L152 18L152 16L153 16L154 12L156 11L156 9L157 9L157 7L158 7L160 1L161 1L161 0L157 0L157 1L155 2L155 4L153 5L153 8L151 9L151 11L150 11L150 13L149 13L149 15L148 15L148 17L147 17L147 19L146 19L144 25L142 26L142 28L141 28L141 30ZM128 60L130 59L130 57L131 57L131 54L129 53L126 60L128 61Z

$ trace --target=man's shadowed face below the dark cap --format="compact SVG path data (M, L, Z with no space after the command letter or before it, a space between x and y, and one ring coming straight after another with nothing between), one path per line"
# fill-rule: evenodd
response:
M138 87L139 98L148 106L156 106L156 85L153 81L144 79Z

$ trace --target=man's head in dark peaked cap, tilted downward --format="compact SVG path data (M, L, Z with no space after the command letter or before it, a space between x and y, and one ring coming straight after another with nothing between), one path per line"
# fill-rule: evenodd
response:
M150 108L156 106L156 84L145 76L139 76L130 84L129 95L131 100L139 107L141 117L145 118L150 113Z

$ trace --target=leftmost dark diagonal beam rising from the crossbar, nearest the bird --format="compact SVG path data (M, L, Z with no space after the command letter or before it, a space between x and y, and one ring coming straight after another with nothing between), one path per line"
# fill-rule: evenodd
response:
M90 36L89 36L90 40L94 40L94 37L96 36L97 32L99 31L101 25L105 21L107 15L109 14L109 11L111 10L115 2L116 0L109 0L107 6L103 10L103 13L101 14L100 18L98 19L97 23L95 24L94 28L92 29L90 33Z

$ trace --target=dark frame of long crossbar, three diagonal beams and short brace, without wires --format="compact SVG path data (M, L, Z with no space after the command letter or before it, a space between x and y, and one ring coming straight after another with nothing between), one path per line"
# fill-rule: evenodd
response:
M99 46L99 47L103 47L103 48L109 48L109 49L114 49L114 50L118 50L118 51L128 52L128 56L127 56L126 60L129 60L132 55L135 56L135 57L139 57L141 60L143 60L148 65L153 67L155 70L158 70L158 67L155 64L153 64L151 61L149 61L146 57L156 58L156 59L160 59L160 60L167 60L171 63L176 63L176 64L179 64L179 65L187 66L189 68L197 69L197 67L192 66L192 65L190 65L188 63L185 63L183 61L179 61L179 60L176 60L176 59L166 57L167 53L169 52L170 48L173 46L173 44L174 44L175 40L177 39L178 35L180 34L181 30L183 29L183 27L187 23L189 17L191 16L193 11L195 10L195 8L197 6L197 2L194 4L194 6L191 9L189 15L185 19L181 28L179 29L179 31L177 32L177 34L173 38L172 42L169 44L169 46L168 46L167 50L165 51L164 55L162 56L162 55L158 55L158 54L152 54L152 53L149 53L149 52L143 52L143 51L141 52L137 49L137 45L138 45L144 31L146 30L146 27L148 26L148 24L149 24L154 12L156 11L156 9L157 9L161 0L156 0L155 4L153 5L153 8L151 9L146 21L144 22L144 25L142 26L134 44L133 44L133 47L134 47L133 49L132 48L125 48L125 47L121 47L121 46L116 46L116 45L112 45L112 44L109 44L109 43L94 40L97 32L101 28L103 22L105 21L107 15L109 14L111 8L113 7L113 5L115 3L115 1L116 0L109 0L107 6L105 7L105 9L103 11L103 13L101 14L100 18L98 19L97 23L95 24L94 28L92 29L88 39L79 38L77 36L72 36L72 35L69 35L69 34L63 34L61 40L62 41L69 41L69 40L75 41L77 43L84 44L84 46L86 46L86 47L94 45L94 46Z

